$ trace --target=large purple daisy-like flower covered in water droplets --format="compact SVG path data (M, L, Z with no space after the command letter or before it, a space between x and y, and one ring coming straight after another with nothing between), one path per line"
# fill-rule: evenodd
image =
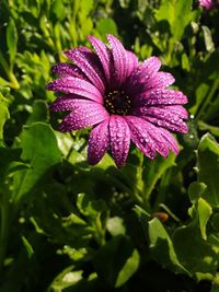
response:
M69 112L59 125L60 131L73 131L92 126L88 159L99 163L110 151L122 167L132 141L148 157L155 152L166 157L178 145L169 132L187 132L182 104L186 96L166 89L174 82L172 74L158 72L161 62L151 57L138 62L113 35L107 36L111 48L90 36L95 52L79 47L67 50L72 63L58 63L53 71L61 78L47 85L64 92L50 106L54 112Z

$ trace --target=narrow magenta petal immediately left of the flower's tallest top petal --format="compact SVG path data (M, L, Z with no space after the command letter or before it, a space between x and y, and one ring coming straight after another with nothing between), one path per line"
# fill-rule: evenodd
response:
M112 54L110 49L106 47L104 43L102 43L100 39L97 39L94 36L89 36L88 37L90 43L92 44L93 48L95 49L99 59L101 61L101 65L103 67L105 78L107 82L111 80L111 74L112 74Z

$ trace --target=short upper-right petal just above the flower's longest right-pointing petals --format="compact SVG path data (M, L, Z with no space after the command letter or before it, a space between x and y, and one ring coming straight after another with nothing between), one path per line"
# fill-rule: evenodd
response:
M146 90L148 89L164 89L175 82L175 79L171 73L158 72L153 75L148 83L145 84Z

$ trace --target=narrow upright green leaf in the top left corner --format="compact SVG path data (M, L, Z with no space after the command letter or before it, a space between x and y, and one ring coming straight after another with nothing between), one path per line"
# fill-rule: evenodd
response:
M14 21L11 19L7 26L7 45L9 48L10 62L13 65L16 55L18 33Z

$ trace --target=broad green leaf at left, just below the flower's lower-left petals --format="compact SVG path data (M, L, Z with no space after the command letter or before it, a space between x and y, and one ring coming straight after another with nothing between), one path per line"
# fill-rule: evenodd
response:
M14 174L13 200L19 201L28 192L36 191L48 179L51 168L61 162L56 137L50 126L36 122L25 126L21 133L22 159L31 168Z

